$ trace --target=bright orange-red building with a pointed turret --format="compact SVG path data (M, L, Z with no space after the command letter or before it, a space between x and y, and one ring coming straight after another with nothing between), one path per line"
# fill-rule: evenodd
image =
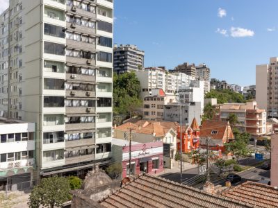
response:
M199 125L196 119L193 119L190 126L183 126L177 130L177 149L180 150L180 137L182 138L183 153L190 153L199 147Z

